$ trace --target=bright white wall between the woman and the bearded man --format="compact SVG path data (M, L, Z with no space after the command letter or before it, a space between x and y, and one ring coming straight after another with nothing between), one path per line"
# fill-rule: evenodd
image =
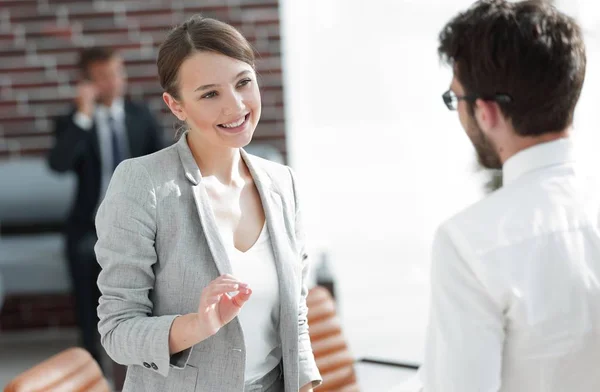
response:
M433 233L481 197L436 53L470 3L281 1L288 151L356 356L422 359Z

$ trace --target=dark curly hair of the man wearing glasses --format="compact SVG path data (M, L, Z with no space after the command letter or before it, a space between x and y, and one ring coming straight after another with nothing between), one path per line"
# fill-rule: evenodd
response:
M498 105L517 134L538 136L572 124L585 45L577 23L547 1L480 0L443 28L438 53L465 94L512 98Z

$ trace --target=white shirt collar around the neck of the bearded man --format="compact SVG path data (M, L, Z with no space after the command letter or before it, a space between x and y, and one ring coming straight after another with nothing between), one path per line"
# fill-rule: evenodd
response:
M508 184L526 173L575 160L575 146L571 138L536 144L519 151L504 163L503 182Z

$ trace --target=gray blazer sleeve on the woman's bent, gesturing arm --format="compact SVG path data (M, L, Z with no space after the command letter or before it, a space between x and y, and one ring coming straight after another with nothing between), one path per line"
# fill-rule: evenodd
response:
M191 349L170 356L169 332L179 315L152 313L156 209L156 192L145 167L136 160L122 162L96 215L95 251L102 268L98 329L115 362L145 366L166 377L171 367L185 367Z

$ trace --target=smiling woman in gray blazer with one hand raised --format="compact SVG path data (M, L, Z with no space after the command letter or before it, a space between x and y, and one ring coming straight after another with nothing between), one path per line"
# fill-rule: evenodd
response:
M254 53L193 17L162 44L163 98L187 131L124 161L98 211L102 344L124 391L311 391L307 256L291 169L247 154Z

